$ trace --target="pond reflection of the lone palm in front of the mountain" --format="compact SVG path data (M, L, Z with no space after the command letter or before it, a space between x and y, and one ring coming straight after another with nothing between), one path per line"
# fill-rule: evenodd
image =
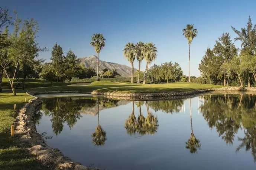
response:
M106 131L103 130L100 126L100 110L99 110L99 99L97 100L98 104L98 126L96 127L96 130L93 134L91 134L91 137L93 137L93 144L96 146L103 146L105 144L106 138Z

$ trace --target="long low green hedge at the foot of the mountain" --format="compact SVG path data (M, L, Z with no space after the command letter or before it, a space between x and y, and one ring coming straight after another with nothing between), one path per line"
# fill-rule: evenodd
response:
M100 78L100 80L102 81L102 78ZM120 81L131 81L130 77L116 77L116 78L103 78L104 81L112 81L112 82L120 82ZM71 82L71 83L84 83L84 82L93 82L93 81L97 81L97 78L72 78L71 81L66 80L65 82Z

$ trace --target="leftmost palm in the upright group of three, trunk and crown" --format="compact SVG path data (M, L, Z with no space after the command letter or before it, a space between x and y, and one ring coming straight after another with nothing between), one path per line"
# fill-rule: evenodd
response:
M127 43L124 46L124 57L126 57L128 59L128 61L130 61L131 65L132 65L132 78L131 78L131 83L133 83L133 62L135 60L135 54L136 54L136 48L135 45L133 43Z

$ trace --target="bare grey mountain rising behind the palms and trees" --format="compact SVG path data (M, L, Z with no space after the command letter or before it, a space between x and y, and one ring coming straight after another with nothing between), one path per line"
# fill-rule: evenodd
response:
M85 65L85 67L92 67L97 72L97 61L98 61L97 56L92 55L90 57L79 58L79 60L80 60L80 64ZM117 72L122 77L130 77L132 74L132 68L127 65L99 60L99 72L101 73L104 68L107 68L110 71L113 68L117 69ZM136 71L136 69L134 69L134 71Z

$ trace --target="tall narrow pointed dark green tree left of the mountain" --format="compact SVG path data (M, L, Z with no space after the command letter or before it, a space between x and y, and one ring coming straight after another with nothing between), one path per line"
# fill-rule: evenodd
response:
M54 68L56 82L64 76L64 55L60 45L57 43L52 47L51 63Z

